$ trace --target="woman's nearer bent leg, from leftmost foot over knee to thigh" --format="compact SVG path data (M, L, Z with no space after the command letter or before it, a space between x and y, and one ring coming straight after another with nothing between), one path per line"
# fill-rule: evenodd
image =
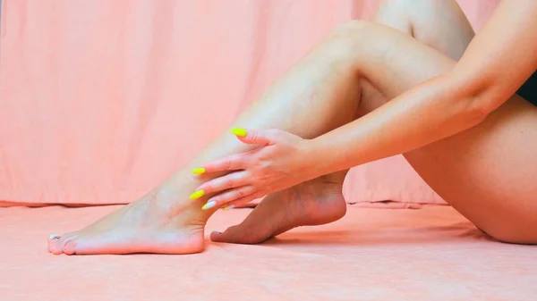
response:
M353 47L346 46L347 43ZM351 62L346 60L345 52L349 50L355 54ZM415 63L416 59L419 63ZM454 64L453 59L394 29L352 22L337 29L289 71L264 97L265 101L254 105L235 124L274 127L314 137L327 130L327 124L337 126L330 122L335 120L335 112L348 113L349 108L358 104L359 91L355 87L360 85L355 82L356 71L367 79L361 80L365 87L362 95L367 87L374 87L381 92L379 95L391 99L423 80L451 70ZM331 71L330 65L337 70ZM320 76L320 71L327 74ZM343 96L346 101L338 101ZM271 97L272 102L266 100ZM374 109L377 105L373 99L379 98L370 97L360 108L364 112ZM383 101L379 100L378 105ZM533 179L537 174L534 163L531 164L537 151L537 129L533 126L536 111L519 97L513 97L481 125L423 147L407 158L440 195L483 230L506 241L533 242L537 240L536 233L531 231L536 229L532 217L537 211L533 202ZM289 112L306 115L307 125L294 122L295 116ZM278 118L284 114L286 119ZM449 148L455 151L447 154ZM200 212L204 200L188 200L198 184L190 169L214 157L246 149L231 139L220 138L161 188L81 231L51 241L50 250L55 254L199 252L203 247L203 227L212 212ZM441 169L432 168L434 163ZM462 183L465 177L475 185ZM512 201L505 202L505 196ZM498 216L503 220L496 219Z

